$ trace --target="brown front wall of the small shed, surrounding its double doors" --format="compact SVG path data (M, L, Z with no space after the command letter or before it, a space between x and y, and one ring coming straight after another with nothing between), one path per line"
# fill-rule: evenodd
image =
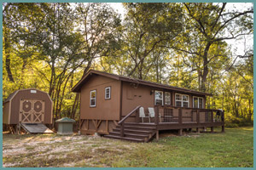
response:
M17 92L17 94L15 94L14 98L10 100L10 103L12 105L10 109L10 124L19 123L20 99L44 100L44 123L52 123L52 101L49 99L49 95L39 90L37 90L36 94L32 94L31 90L36 89L20 90L19 92Z

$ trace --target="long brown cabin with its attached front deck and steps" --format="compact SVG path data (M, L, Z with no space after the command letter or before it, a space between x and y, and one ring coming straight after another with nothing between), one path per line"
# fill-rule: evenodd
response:
M213 130L224 126L224 120L219 121L217 117L218 110L206 109L206 96L212 94L94 70L82 77L72 90L80 93L82 134L102 133L132 140L132 133L150 129L153 133L141 134L142 141L147 142L154 134L158 137L159 130L181 129L182 132L183 128ZM142 118L141 107L146 116L148 107L154 108L154 117L159 119Z

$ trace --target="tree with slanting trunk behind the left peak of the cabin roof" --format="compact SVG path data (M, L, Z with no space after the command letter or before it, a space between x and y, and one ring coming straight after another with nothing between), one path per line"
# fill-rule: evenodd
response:
M83 41L84 72L90 70L95 59L111 55L119 48L119 14L107 3L78 3L76 6L76 26ZM71 112L72 117L79 106L79 94L76 94Z

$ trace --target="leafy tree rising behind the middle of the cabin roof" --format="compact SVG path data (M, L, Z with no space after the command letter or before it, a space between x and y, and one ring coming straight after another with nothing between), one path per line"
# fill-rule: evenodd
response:
M127 10L124 21L123 50L131 60L129 77L145 79L152 53L160 44L172 44L183 30L183 14L178 3L124 3ZM151 65L149 65L150 67Z

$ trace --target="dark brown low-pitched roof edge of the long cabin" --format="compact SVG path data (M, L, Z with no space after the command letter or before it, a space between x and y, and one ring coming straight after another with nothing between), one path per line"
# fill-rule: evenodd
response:
M84 85L85 82L87 82L89 80L89 78L92 75L100 75L103 77L113 78L113 79L119 80L119 81L132 82L132 83L142 84L142 85L146 85L146 86L154 87L154 88L164 88L164 89L174 90L177 92L212 96L212 94L208 94L208 93L204 93L204 92L200 92L200 91L196 91L196 90L191 90L188 88L178 88L178 87L170 86L167 84L160 84L157 82L149 82L149 81L140 80L137 78L125 77L125 76L115 75L115 74L104 72L104 71L95 71L95 70L88 71L88 73L84 77L82 77L81 80L72 88L72 91L79 93L81 87Z

